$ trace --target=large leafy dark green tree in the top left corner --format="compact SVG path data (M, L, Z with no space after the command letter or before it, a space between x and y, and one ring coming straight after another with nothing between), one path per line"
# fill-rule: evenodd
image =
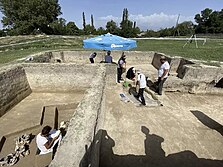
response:
M0 0L0 11L3 26L16 34L49 32L48 25L61 14L58 0Z

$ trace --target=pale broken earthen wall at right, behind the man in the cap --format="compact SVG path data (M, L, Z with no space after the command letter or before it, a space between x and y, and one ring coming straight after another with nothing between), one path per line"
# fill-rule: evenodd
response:
M165 56L170 63L170 75L164 84L165 91L180 91L189 93L222 94L221 78L223 68L204 65L200 61L191 61L181 57L168 57L155 53L152 65L158 69L160 57Z

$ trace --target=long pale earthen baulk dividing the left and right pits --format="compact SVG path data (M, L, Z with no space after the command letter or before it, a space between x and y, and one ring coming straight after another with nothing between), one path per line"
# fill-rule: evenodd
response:
M67 134L50 167L99 166L100 129L104 120L105 78L105 66L100 66L91 87L70 120Z

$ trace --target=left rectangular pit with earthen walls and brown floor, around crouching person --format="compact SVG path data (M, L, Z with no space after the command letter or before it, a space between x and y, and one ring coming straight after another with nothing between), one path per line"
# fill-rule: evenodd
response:
M32 134L30 155L14 166L48 165L51 158L36 155L35 136L45 125L59 128L72 118L96 70L76 64L25 64L0 71L0 159L15 152L16 137Z

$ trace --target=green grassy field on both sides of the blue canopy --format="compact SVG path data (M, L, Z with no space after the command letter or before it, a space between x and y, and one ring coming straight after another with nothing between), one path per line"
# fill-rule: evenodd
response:
M4 37L0 40L0 64L42 51L83 50L83 39L84 37L44 35ZM156 51L170 56L223 62L223 39L207 39L205 45L203 41L198 41L198 48L194 41L183 48L185 43L186 41L138 39L138 47L134 50Z

